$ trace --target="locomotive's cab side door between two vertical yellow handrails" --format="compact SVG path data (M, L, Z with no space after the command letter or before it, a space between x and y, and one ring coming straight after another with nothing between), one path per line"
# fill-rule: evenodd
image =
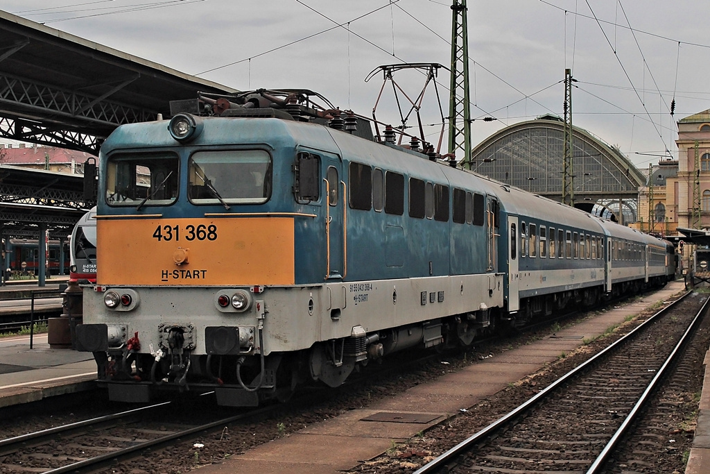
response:
M325 235L327 273L325 279L342 279L344 268L344 215L345 183L341 181L342 163L339 158L324 156L325 178L323 185L327 203L325 203Z

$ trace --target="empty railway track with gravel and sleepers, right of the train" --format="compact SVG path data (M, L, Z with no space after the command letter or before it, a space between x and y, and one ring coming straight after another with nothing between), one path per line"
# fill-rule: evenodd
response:
M602 472L708 301L687 293L415 474Z

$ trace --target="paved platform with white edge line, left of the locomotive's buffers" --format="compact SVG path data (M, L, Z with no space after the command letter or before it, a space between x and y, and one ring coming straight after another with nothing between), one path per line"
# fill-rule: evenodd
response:
M52 349L47 334L0 338L0 407L92 389L96 363L89 352Z

